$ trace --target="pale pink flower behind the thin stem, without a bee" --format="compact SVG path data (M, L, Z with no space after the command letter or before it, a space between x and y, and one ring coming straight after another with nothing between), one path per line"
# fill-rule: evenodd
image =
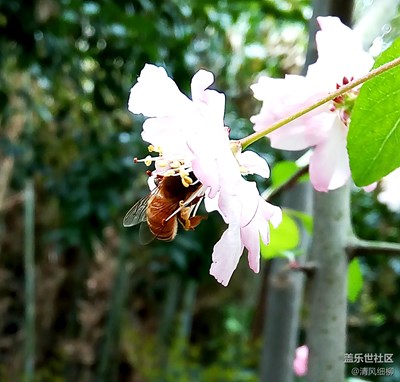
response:
M336 17L318 17L321 30L316 41L318 60L305 77L285 79L261 77L252 86L263 101L260 114L253 116L256 131L303 109L351 79L366 74L373 59L362 49L361 40ZM343 186L350 177L346 150L349 103L357 90L325 104L268 134L271 146L284 150L314 148L310 158L310 179L317 191Z

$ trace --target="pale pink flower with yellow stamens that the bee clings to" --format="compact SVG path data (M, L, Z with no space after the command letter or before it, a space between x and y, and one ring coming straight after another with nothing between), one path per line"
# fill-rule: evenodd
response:
M131 89L128 109L150 117L143 124L142 138L158 152L147 158L155 162L154 176L180 175L184 183L193 172L202 184L206 209L218 211L228 224L214 246L210 269L226 286L245 247L250 268L259 271L260 237L268 244L268 221L279 224L281 210L264 201L255 183L242 177L268 177L268 164L254 152L242 153L238 142L229 140L223 122L225 96L208 89L213 82L212 73L198 71L189 99L164 68L146 64Z

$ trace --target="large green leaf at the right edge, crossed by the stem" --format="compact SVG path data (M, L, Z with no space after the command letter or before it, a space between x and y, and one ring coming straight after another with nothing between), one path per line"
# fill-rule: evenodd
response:
M379 67L400 56L400 38L376 60ZM360 89L347 137L350 168L357 186L371 184L400 166L400 66Z

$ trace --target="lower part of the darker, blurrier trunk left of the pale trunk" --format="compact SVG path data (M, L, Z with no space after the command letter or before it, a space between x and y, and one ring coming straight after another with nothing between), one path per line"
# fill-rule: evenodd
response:
M310 186L299 184L285 194L283 205L298 211L310 211ZM308 247L302 230L303 261ZM261 358L261 381L293 381L293 358L297 344L299 312L304 278L288 269L288 261L274 259L267 280L266 324Z

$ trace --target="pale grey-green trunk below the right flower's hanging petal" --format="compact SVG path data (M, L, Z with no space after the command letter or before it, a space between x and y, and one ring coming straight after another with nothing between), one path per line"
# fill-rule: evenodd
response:
M347 254L351 233L350 187L314 192L314 235L310 260L309 382L344 381L347 317Z

